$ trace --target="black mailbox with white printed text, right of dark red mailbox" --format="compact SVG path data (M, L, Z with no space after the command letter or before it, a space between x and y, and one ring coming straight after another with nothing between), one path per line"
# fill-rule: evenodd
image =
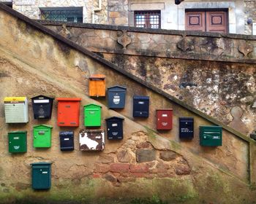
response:
M179 118L179 137L193 138L194 137L194 118L180 117Z

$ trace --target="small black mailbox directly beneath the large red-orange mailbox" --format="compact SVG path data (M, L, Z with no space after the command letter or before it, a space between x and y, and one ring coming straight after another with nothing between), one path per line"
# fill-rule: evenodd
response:
M61 131L59 132L59 138L61 141L61 151L74 150L74 132Z

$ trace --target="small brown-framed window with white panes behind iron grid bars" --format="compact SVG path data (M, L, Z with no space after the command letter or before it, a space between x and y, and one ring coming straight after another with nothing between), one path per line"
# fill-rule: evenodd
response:
M138 28L161 28L160 11L136 11L135 27Z

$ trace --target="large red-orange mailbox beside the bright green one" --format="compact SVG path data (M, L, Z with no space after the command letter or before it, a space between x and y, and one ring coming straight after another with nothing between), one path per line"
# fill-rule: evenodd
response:
M81 98L56 98L58 101L58 126L79 126Z

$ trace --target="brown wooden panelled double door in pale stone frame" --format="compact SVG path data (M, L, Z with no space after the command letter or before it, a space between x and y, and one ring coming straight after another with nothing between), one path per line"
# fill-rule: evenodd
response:
M186 30L227 33L227 11L186 10Z

